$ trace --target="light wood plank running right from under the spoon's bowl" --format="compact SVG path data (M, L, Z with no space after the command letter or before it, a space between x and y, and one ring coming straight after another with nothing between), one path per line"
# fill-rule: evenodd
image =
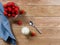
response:
M33 21L36 27L60 27L60 17L34 17L24 16L17 20L22 20L23 25L29 26L29 21Z

